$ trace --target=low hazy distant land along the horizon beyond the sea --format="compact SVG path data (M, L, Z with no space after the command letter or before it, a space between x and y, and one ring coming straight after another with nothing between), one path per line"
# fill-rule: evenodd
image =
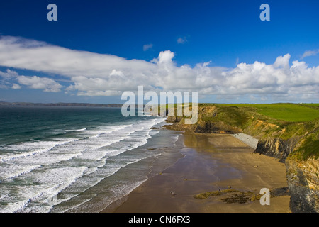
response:
M89 106L89 107L122 107L122 104L84 104L84 103L37 104L37 103L30 103L30 102L5 102L5 101L0 101L0 106Z

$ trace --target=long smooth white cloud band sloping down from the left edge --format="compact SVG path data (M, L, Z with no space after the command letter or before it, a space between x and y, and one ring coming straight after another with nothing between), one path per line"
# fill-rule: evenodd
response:
M0 39L0 65L53 74L108 77L113 69L135 73L149 68L150 62L125 60L114 55L70 50L35 40L15 37Z

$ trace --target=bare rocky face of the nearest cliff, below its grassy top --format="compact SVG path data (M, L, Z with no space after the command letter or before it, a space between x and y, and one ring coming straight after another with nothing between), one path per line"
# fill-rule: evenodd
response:
M277 157L286 164L286 177L291 195L290 209L294 213L319 212L319 159L308 157L304 160L298 150L306 146L301 137L288 140L269 138L259 141L256 153ZM313 147L319 149L319 147Z

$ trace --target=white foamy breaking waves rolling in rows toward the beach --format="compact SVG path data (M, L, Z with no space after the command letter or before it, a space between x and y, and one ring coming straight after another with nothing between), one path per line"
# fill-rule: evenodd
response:
M151 118L122 125L65 130L67 133L50 140L1 146L6 152L0 155L0 212L48 212L53 206L78 196L121 168L147 157L112 159L145 145L158 133L150 128L162 121L163 118ZM16 181L20 183L13 193ZM57 197L61 192L62 197Z

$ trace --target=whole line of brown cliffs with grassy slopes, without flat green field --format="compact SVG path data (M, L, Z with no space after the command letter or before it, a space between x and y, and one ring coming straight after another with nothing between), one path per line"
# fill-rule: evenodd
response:
M291 104L294 105L294 104ZM259 139L255 153L286 164L292 212L319 211L319 118L284 121L260 114L252 105L198 105L198 121L185 125L184 117L168 117L167 126L194 133L246 133Z

